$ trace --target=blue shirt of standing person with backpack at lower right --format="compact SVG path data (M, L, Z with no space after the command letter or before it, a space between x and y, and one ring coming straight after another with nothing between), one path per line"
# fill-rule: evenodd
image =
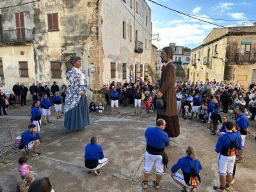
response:
M215 151L217 153L220 153L223 148L230 147L230 144L232 141L236 141L236 144L238 147L237 149L241 150L241 140L240 140L239 136L237 136L237 133L226 132L225 134L221 134L220 138L218 139L218 141L216 143Z

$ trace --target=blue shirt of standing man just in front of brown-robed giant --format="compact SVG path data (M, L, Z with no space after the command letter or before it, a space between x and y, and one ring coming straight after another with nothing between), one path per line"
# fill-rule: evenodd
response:
M147 145L154 148L164 148L169 145L168 134L159 127L148 127L145 131Z

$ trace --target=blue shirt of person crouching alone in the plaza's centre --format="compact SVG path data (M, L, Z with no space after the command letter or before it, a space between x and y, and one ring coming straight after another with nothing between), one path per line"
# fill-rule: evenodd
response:
M84 159L87 160L99 160L103 159L104 154L102 147L95 143L88 143L85 147Z

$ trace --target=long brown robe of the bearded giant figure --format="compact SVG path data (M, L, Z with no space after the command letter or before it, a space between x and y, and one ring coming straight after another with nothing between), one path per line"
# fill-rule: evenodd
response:
M173 62L166 64L161 74L159 89L166 99L166 110L157 113L157 120L163 118L166 121L165 131L170 138L175 138L180 134L179 113L177 111L175 93L175 74Z

